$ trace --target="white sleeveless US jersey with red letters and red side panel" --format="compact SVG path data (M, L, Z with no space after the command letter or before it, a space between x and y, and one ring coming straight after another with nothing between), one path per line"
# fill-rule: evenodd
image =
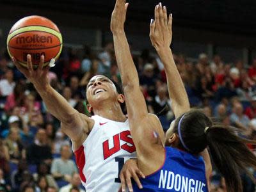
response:
M125 161L136 157L128 120L115 122L92 116L93 129L74 153L86 192L117 192L119 173Z

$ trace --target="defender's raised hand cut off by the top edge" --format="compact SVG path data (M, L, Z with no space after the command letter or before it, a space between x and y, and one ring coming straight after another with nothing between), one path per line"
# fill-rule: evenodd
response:
M125 3L125 0L116 0L110 24L112 33L120 33L124 31L124 23L128 5L129 3Z

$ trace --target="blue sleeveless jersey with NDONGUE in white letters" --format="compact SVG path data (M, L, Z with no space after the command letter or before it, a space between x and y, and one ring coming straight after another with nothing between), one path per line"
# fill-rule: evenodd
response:
M163 166L141 179L141 184L143 189L134 182L134 191L207 192L204 160L201 156L165 147Z

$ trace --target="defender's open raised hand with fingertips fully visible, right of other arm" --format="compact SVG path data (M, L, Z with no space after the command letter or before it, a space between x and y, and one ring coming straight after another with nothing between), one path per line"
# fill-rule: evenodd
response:
M156 49L170 47L172 43L172 14L168 18L166 6L161 3L155 8L155 20L150 22L149 36Z

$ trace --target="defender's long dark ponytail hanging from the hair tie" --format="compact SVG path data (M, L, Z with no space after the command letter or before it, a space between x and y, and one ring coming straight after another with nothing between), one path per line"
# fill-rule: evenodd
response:
M256 169L256 157L246 146L255 141L239 138L232 127L213 125L205 131L212 160L223 175L227 191L242 192L240 174L245 171L255 181L248 168Z

